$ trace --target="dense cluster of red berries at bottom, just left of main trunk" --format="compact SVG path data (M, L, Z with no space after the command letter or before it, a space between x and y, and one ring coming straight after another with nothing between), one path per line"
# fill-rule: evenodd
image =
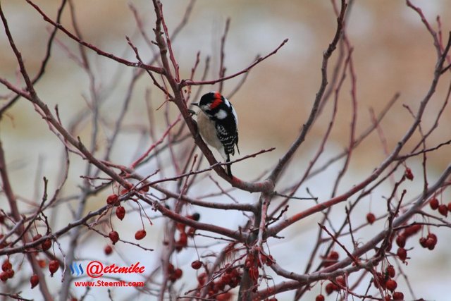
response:
M197 276L197 281L199 285L197 286L198 290L207 285L208 288L208 297L215 297L218 300L219 296L221 296L221 300L224 300L224 293L227 293L226 290L230 290L230 288L236 288L241 281L241 274L237 268L229 267L226 271L219 277L216 281L211 281L206 284L207 275L206 273L199 274Z

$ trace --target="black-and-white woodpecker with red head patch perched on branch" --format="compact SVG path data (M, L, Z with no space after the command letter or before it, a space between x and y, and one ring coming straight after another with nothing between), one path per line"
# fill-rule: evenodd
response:
M218 150L219 154L230 162L230 155L235 155L235 146L238 154L238 118L232 104L220 92L214 91L204 94L198 103L197 128L202 139ZM230 178L232 171L227 164L227 173Z

